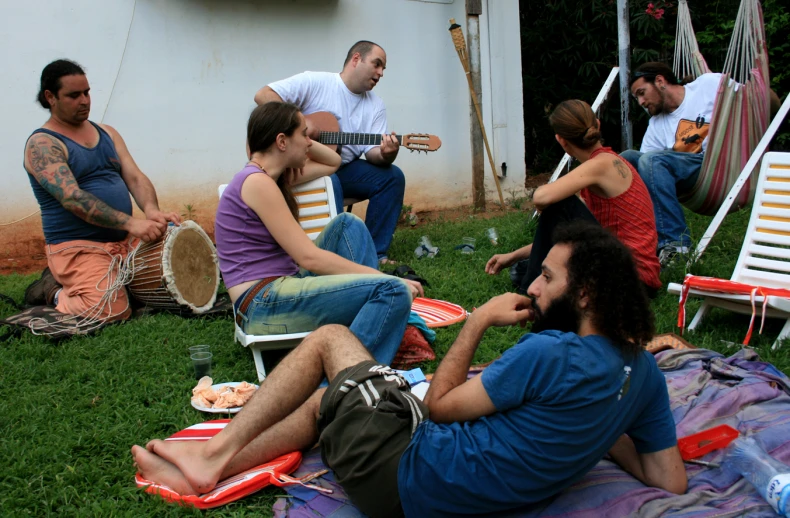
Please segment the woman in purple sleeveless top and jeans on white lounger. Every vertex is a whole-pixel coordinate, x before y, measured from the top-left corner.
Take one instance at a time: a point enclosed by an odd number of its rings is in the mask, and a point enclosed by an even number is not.
[[[311,241],[290,190],[303,171],[333,173],[339,155],[310,140],[296,106],[277,102],[253,110],[247,150],[249,162],[223,192],[215,223],[237,322],[248,334],[342,324],[389,364],[422,287],[378,271],[373,239],[352,214],[338,215]]]

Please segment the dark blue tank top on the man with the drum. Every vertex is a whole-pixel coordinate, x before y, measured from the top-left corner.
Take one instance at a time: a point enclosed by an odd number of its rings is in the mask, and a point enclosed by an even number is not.
[[[46,133],[63,142],[69,152],[69,168],[80,189],[93,194],[113,209],[131,216],[132,200],[129,197],[129,189],[121,177],[121,162],[118,160],[112,137],[97,124],[93,122],[91,124],[99,132],[99,143],[93,148],[82,146],[60,133],[45,128],[37,129],[32,135]],[[32,175],[27,176],[33,187],[33,194],[41,207],[41,224],[48,245],[75,239],[101,243],[126,239],[127,233],[124,230],[97,227],[67,211]]]

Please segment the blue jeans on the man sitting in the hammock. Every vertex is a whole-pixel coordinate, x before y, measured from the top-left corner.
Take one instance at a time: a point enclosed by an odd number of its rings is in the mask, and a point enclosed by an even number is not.
[[[639,172],[653,200],[659,250],[672,242],[691,246],[678,193],[690,191],[694,187],[704,155],[679,153],[671,149],[647,153],[629,149],[620,153],[620,156]]]

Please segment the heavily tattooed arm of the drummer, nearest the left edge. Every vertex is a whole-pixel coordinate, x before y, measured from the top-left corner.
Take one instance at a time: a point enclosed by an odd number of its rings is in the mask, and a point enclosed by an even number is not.
[[[92,225],[125,230],[135,237],[152,241],[162,229],[113,209],[77,184],[67,163],[66,146],[46,133],[36,133],[25,146],[25,169],[63,208]],[[142,223],[142,224],[141,224]]]

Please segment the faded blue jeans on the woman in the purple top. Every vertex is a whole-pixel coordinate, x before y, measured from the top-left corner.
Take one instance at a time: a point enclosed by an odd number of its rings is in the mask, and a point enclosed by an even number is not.
[[[353,214],[334,218],[315,244],[355,263],[378,266],[370,233]],[[389,365],[400,346],[410,311],[411,294],[397,277],[315,275],[301,270],[261,290],[242,319],[248,334],[300,333],[325,324],[342,324],[377,362]]]

